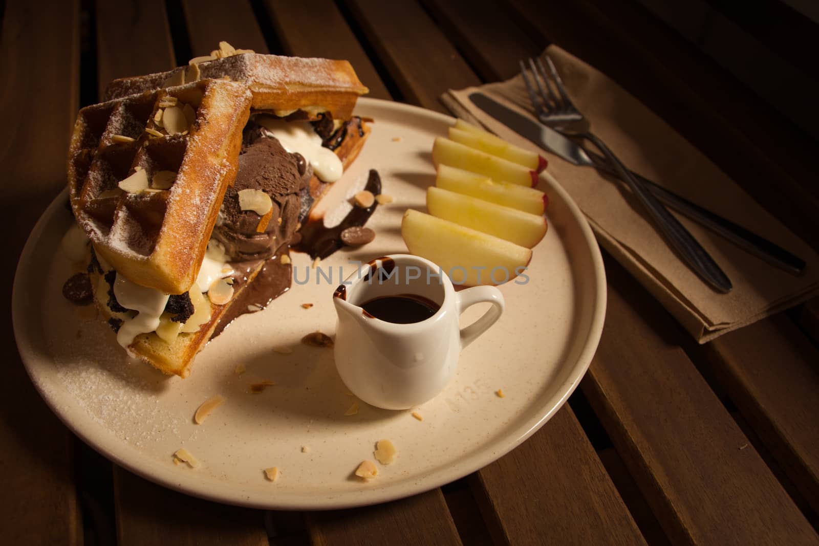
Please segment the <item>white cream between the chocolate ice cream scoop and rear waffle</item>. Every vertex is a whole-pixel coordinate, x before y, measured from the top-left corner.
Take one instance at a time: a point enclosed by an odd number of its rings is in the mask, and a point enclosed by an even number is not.
[[[260,115],[256,117],[256,123],[278,138],[285,150],[304,156],[323,182],[335,182],[342,178],[342,160],[332,150],[321,145],[321,137],[313,130],[309,121],[285,121]]]

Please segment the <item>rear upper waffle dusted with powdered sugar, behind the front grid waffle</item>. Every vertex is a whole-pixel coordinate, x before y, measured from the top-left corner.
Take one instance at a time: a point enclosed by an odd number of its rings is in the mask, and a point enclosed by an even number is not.
[[[348,61],[242,53],[167,72],[115,79],[106,89],[106,99],[144,93],[167,83],[225,77],[247,84],[254,110],[272,111],[279,117],[300,112],[305,119],[314,120],[329,112],[333,120],[349,120],[355,100],[368,92]]]

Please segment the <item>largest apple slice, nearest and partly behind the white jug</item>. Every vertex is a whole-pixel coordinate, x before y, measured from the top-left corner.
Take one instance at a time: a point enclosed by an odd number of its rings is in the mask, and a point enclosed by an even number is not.
[[[526,270],[532,250],[457,223],[408,209],[401,237],[409,252],[441,266],[452,282],[502,284]]]

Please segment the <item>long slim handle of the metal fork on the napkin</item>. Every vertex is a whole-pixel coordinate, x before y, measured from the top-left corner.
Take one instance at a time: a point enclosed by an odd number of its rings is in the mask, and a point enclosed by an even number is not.
[[[708,255],[708,252],[700,246],[694,237],[691,237],[690,232],[668,212],[663,204],[649,192],[643,183],[631,176],[631,171],[626,169],[625,165],[622,165],[617,156],[609,150],[609,147],[593,133],[586,132],[580,136],[593,142],[595,146],[603,152],[611,165],[614,166],[614,169],[617,170],[620,179],[631,187],[631,191],[634,192],[645,208],[649,210],[649,214],[654,217],[654,221],[663,231],[667,240],[671,242],[672,246],[676,248],[682,258],[686,260],[690,268],[693,269],[700,278],[703,278],[705,282],[708,282],[708,285],[710,285],[713,290],[722,292],[722,294],[730,292],[733,287],[731,280],[713,258]]]

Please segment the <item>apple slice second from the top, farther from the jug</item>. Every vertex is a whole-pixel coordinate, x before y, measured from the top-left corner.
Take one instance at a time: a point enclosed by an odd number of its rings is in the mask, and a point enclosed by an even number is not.
[[[483,174],[493,180],[534,187],[537,184],[537,173],[523,165],[512,163],[502,157],[492,156],[485,151],[476,150],[454,142],[448,138],[438,137],[432,145],[432,162],[435,166],[450,165],[466,169],[473,173]]]

